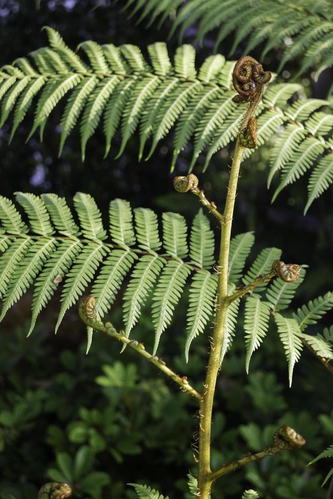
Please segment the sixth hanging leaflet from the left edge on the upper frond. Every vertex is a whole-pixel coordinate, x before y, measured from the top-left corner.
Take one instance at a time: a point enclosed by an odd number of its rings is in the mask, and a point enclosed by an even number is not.
[[[118,76],[104,78],[88,97],[80,124],[82,161],[86,156],[88,139],[96,130],[105,104],[118,82]]]

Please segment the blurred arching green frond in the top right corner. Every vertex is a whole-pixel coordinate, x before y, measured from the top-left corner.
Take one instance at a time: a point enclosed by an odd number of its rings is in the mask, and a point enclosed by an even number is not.
[[[247,41],[243,50],[249,53],[263,45],[262,58],[272,49],[283,50],[279,72],[287,61],[300,61],[298,74],[309,67],[318,67],[329,55],[333,44],[332,6],[328,1],[314,5],[311,0],[297,4],[280,4],[274,0],[235,2],[234,0],[118,0],[130,17],[142,11],[137,22],[148,19],[148,25],[159,18],[159,26],[175,11],[170,35],[180,28],[180,39],[191,26],[198,26],[196,42],[202,43],[214,31],[215,50],[233,34],[231,53]],[[285,43],[291,39],[292,43]],[[302,59],[303,57],[303,59]],[[321,66],[320,66],[321,68]],[[321,69],[323,70],[323,69]]]

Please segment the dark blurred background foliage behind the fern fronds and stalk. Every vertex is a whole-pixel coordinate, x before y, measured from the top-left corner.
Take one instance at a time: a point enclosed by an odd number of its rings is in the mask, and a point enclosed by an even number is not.
[[[72,48],[83,40],[93,39],[115,45],[133,43],[145,50],[149,43],[166,39],[168,26],[158,31],[153,27],[146,30],[143,24],[136,26],[135,20],[127,20],[119,5],[108,1],[41,0],[36,10],[31,0],[1,0],[0,65],[46,44],[45,34],[40,31],[45,24],[58,30]],[[185,42],[190,43],[195,33],[191,29],[185,35]],[[232,40],[226,41],[224,54],[229,52],[231,44]],[[211,53],[212,45],[212,39],[205,40],[198,52],[199,61]],[[176,46],[174,37],[169,42],[171,52]],[[234,59],[241,55],[241,49]],[[252,55],[259,58],[260,47]],[[279,52],[270,52],[265,67],[276,70],[279,58]],[[291,63],[279,78],[289,80],[292,73]],[[311,74],[303,75],[300,82],[309,96],[325,98],[328,80],[329,73],[324,72],[317,84]],[[138,162],[135,136],[122,157],[115,160],[117,140],[108,158],[102,159],[103,138],[96,133],[89,141],[82,163],[79,137],[74,132],[58,158],[61,110],[61,105],[54,110],[43,144],[37,136],[25,144],[31,126],[29,117],[10,146],[8,126],[0,131],[2,195],[12,198],[17,190],[36,194],[53,191],[71,198],[76,191],[83,191],[95,197],[104,213],[108,201],[116,197],[128,199],[133,207],[179,211],[189,218],[197,212],[195,198],[189,195],[184,198],[172,189],[171,138],[164,140],[149,161]],[[206,196],[218,206],[225,195],[231,153],[228,149],[221,151],[204,175],[200,163],[195,171]],[[184,151],[176,174],[186,173],[188,157],[190,151]],[[286,188],[271,205],[272,191],[266,189],[268,157],[269,147],[265,147],[243,165],[233,234],[255,230],[254,255],[264,246],[276,246],[283,248],[285,261],[310,266],[308,278],[296,297],[297,307],[331,290],[332,191],[315,201],[306,217],[302,215],[306,199],[306,184],[302,181]],[[155,486],[164,495],[169,494],[170,499],[185,496],[186,474],[189,470],[195,472],[192,457],[195,449],[190,447],[190,442],[196,444],[197,419],[190,415],[195,413],[195,404],[131,352],[119,356],[118,345],[107,338],[95,335],[86,356],[85,328],[74,310],[66,315],[54,337],[58,298],[59,294],[53,299],[53,309],[51,306],[41,316],[38,330],[29,339],[25,334],[31,295],[13,307],[2,324],[0,497],[35,498],[38,488],[64,473],[62,467],[70,466],[68,463],[78,451],[86,456],[87,462],[86,469],[75,478],[78,496],[135,497],[126,487],[127,482]],[[163,358],[200,386],[207,362],[207,337],[193,344],[186,366],[183,312],[179,311],[172,327],[163,335]],[[117,321],[119,315],[120,310],[115,308],[112,319]],[[328,314],[322,326],[330,325],[330,320]],[[315,327],[313,332],[321,329]],[[151,332],[147,308],[135,335],[149,344]],[[256,488],[265,499],[325,497],[320,484],[327,473],[327,463],[309,468],[305,465],[332,443],[329,374],[309,352],[303,352],[289,389],[283,349],[274,330],[269,331],[263,348],[254,355],[251,372],[249,376],[244,372],[239,324],[234,347],[218,380],[213,466],[247,451],[263,449],[280,424],[294,426],[306,437],[307,446],[295,453],[266,458],[243,472],[227,476],[216,484],[213,499],[239,498],[245,488]],[[96,472],[102,474],[98,477]],[[91,479],[93,492],[82,485],[91,474],[95,474],[95,482]]]

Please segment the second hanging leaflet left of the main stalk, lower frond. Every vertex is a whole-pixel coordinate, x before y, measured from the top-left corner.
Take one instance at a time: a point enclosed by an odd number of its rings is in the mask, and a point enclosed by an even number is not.
[[[152,306],[152,320],[155,326],[153,355],[156,354],[162,332],[171,323],[175,306],[181,297],[190,271],[190,267],[182,261],[170,260],[159,277]]]

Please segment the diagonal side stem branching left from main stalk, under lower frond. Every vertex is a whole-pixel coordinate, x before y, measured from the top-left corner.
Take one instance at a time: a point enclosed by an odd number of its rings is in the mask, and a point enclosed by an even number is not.
[[[81,300],[81,302],[82,301],[84,300]],[[104,332],[105,334],[107,334],[107,336],[114,338],[115,340],[123,343],[123,345],[127,345],[137,353],[140,353],[140,355],[145,357],[149,362],[151,362],[151,364],[157,367],[157,369],[162,371],[164,374],[166,374],[166,376],[169,376],[169,378],[177,383],[181,387],[183,392],[188,393],[199,401],[202,400],[202,395],[189,384],[186,376],[178,376],[178,374],[176,374],[168,366],[165,365],[165,362],[161,358],[158,358],[157,356],[154,356],[151,353],[147,352],[143,343],[138,343],[136,340],[129,340],[128,338],[126,338],[126,336],[123,335],[124,331],[117,332],[117,330],[110,322],[106,322],[106,324],[103,324],[103,322],[94,318],[90,319],[85,314],[84,308],[81,306],[81,303],[78,310],[80,318],[88,327],[92,327],[95,331]]]

